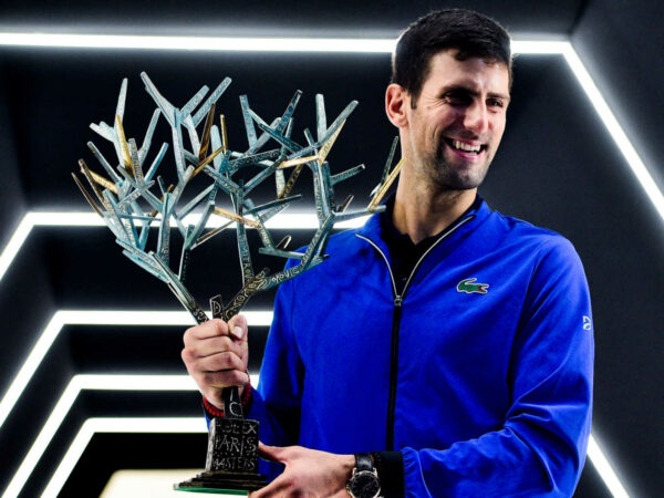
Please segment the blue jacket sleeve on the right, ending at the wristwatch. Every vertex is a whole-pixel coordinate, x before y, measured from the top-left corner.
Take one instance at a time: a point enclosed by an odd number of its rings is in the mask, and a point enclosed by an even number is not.
[[[505,423],[447,448],[403,448],[408,497],[570,497],[590,436],[593,336],[588,283],[563,240],[533,268]]]

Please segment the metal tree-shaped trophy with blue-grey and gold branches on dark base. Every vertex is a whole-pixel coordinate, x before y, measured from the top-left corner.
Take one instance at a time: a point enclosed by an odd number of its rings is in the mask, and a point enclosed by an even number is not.
[[[228,147],[224,116],[221,115],[219,126],[214,124],[216,103],[230,84],[229,79],[209,96],[209,90],[204,86],[178,108],[157,91],[147,74],[143,73],[141,76],[147,93],[157,105],[142,146],[138,147],[134,138],[127,139],[125,136],[123,120],[127,81],[124,80],[114,125],[110,126],[104,122],[91,124],[92,129],[111,142],[115,149],[115,158],[107,160],[92,142],[87,144],[107,176],[91,170],[83,159],[79,162],[81,173],[91,190],[84,187],[75,174],[72,176],[92,208],[116,237],[123,253],[166,282],[198,323],[207,321],[208,315],[185,284],[187,263],[194,249],[214,239],[226,228],[235,228],[243,284],[227,303],[222,303],[219,295],[210,299],[211,315],[228,321],[256,292],[274,288],[321,263],[325,258],[325,247],[334,224],[381,210],[378,203],[398,174],[401,163],[390,173],[395,142],[369,206],[346,212],[352,197],[336,205],[334,185],[357,174],[364,166],[359,165],[332,175],[326,157],[356,102],[349,104],[328,126],[323,97],[317,95],[317,137],[304,129],[305,145],[300,145],[292,138],[292,116],[301,92],[295,92],[283,114],[271,121],[271,124],[260,118],[250,108],[247,97],[241,96],[249,148],[246,152],[234,152]],[[149,147],[159,115],[168,123],[173,137],[170,145],[175,172],[162,172],[170,173],[174,178],[174,183],[168,186],[167,176],[157,172],[169,144],[164,143],[148,165]],[[257,127],[260,134],[257,133]],[[269,144],[273,144],[274,148],[269,149]],[[304,167],[312,173],[319,222],[307,249],[294,252],[287,250],[290,237],[274,243],[266,222],[300,197],[291,195],[291,191]],[[290,170],[288,180],[284,175],[287,170]],[[240,176],[241,179],[238,179]],[[196,183],[193,181],[195,177],[198,177]],[[276,198],[257,206],[248,195],[268,179],[273,181]],[[195,190],[199,185],[200,189]],[[221,198],[229,198],[227,205],[230,208],[221,207]],[[224,221],[220,226],[209,228],[208,221],[212,215],[221,217]],[[257,230],[260,253],[293,259],[298,263],[274,273],[268,269],[255,271],[247,227]],[[153,229],[152,237],[151,228],[156,228],[157,231],[155,234]],[[177,272],[172,270],[170,246],[174,234],[179,234],[181,238]],[[154,249],[148,249],[148,242],[153,239]],[[222,397],[225,417],[210,422],[205,471],[176,485],[176,489],[252,490],[264,486],[264,476],[258,474],[258,422],[243,417],[236,387],[225,388]]]

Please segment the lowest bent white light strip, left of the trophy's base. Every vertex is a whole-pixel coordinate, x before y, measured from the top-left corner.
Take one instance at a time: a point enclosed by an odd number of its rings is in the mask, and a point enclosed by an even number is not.
[[[89,418],[70,445],[55,473],[45,487],[42,498],[56,498],[69,476],[81,459],[90,440],[98,433],[137,433],[137,434],[190,434],[206,433],[203,417],[196,418]]]

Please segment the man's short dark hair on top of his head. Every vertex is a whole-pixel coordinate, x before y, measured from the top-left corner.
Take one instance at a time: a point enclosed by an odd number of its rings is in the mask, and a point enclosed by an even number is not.
[[[432,56],[458,50],[457,59],[483,58],[504,63],[511,85],[511,49],[507,31],[492,19],[465,9],[443,9],[413,22],[400,37],[392,58],[392,83],[415,102],[428,76]]]

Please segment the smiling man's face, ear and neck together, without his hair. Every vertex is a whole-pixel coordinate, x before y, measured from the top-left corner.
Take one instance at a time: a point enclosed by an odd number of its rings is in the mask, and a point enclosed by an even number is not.
[[[414,242],[475,201],[505,131],[509,64],[447,49],[430,58],[417,94],[398,83],[387,87],[385,107],[405,159],[394,225]]]

